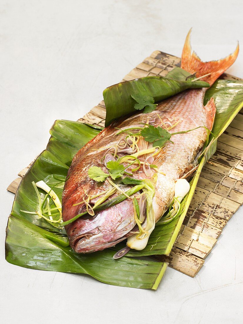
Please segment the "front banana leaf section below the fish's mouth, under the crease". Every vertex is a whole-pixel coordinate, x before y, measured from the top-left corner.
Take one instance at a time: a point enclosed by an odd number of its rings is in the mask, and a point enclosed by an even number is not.
[[[114,251],[106,249],[90,254],[75,253],[50,240],[46,231],[18,216],[8,220],[6,260],[29,269],[85,273],[123,287],[157,289],[166,263],[127,257],[114,260]]]

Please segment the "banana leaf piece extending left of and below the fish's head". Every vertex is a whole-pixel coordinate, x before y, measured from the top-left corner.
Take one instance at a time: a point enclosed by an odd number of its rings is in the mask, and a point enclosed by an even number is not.
[[[100,132],[75,121],[56,121],[47,149],[43,151],[22,179],[15,196],[6,229],[6,260],[12,264],[39,270],[86,273],[106,284],[157,289],[167,263],[122,258],[114,260],[110,249],[92,254],[78,254],[70,247],[64,229],[52,226],[35,211],[38,198],[32,181],[44,180],[61,200],[64,180],[72,157],[81,145]],[[61,182],[62,181],[62,182]],[[60,183],[61,182],[61,183]],[[41,199],[45,192],[40,192]]]

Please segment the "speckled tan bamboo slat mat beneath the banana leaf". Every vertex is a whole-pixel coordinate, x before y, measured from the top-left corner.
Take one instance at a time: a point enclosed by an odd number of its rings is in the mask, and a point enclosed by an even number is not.
[[[180,66],[180,58],[155,51],[129,72],[122,81],[148,75],[165,76],[175,66]],[[226,74],[221,78],[238,79]],[[104,126],[104,101],[79,121]],[[20,171],[19,177],[8,186],[8,191],[16,193],[22,177],[32,163]],[[218,139],[215,154],[203,168],[171,254],[155,256],[155,258],[167,261],[171,268],[194,277],[203,266],[205,257],[215,246],[227,221],[243,203],[242,179],[243,114],[240,112]]]

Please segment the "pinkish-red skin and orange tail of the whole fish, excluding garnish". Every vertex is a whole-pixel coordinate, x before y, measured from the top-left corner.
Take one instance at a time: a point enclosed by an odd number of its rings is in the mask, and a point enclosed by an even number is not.
[[[191,74],[197,72],[200,77],[211,73],[203,78],[212,85],[214,81],[235,61],[238,54],[236,51],[219,61],[203,63],[197,55],[191,53],[190,32],[187,35],[182,52],[182,68]],[[120,119],[112,125],[106,127],[93,140],[82,147],[74,156],[68,171],[66,183],[62,196],[63,221],[72,219],[75,215],[86,210],[83,204],[73,206],[83,200],[83,197],[90,197],[112,188],[111,184],[105,180],[103,183],[96,182],[89,178],[88,169],[92,166],[101,167],[107,172],[102,163],[102,157],[108,152],[109,147],[116,145],[124,134],[117,134],[120,129],[138,127],[149,122],[155,127],[164,123],[178,124],[171,129],[171,133],[187,131],[199,126],[206,126],[212,129],[215,117],[215,104],[211,99],[206,106],[203,105],[205,89],[191,89],[176,96],[160,102],[157,109],[150,114],[138,113],[124,120]],[[174,195],[174,186],[177,179],[181,178],[194,166],[194,159],[203,147],[207,137],[207,131],[201,127],[188,133],[175,134],[171,136],[173,143],[167,143],[163,150],[155,156],[153,164],[156,164],[161,172],[158,173],[155,185],[155,195],[153,198],[153,209],[156,222],[165,212],[168,203]],[[100,148],[103,150],[100,150]],[[148,144],[148,148],[152,144]],[[105,148],[105,149],[104,149]],[[127,154],[118,153],[118,156]],[[142,156],[145,157],[145,156]],[[154,170],[149,176],[151,178]],[[142,168],[134,173],[136,179],[146,179]],[[123,191],[129,186],[123,186]],[[115,197],[116,192],[110,198]],[[109,198],[109,199],[110,199]],[[90,201],[92,205],[98,198]],[[132,200],[126,199],[106,210],[95,214],[94,218],[79,218],[72,224],[65,227],[69,237],[70,245],[78,253],[88,253],[103,250],[115,246],[118,242],[126,239],[131,230],[136,225],[133,212]]]

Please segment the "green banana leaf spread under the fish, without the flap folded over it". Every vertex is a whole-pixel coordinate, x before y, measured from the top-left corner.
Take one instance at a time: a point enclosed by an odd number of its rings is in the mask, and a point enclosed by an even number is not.
[[[187,208],[192,199],[197,180],[205,161],[214,153],[216,138],[225,130],[243,105],[243,81],[217,81],[205,95],[205,103],[215,98],[217,113],[210,143],[191,182],[180,218],[169,224],[159,224],[152,232],[148,246],[143,251],[131,250],[126,257],[113,260],[114,251],[106,249],[92,254],[75,253],[69,246],[64,229],[53,227],[36,215],[21,210],[34,211],[37,197],[32,181],[44,180],[61,199],[63,182],[72,157],[101,129],[79,122],[56,121],[51,138],[26,176],[22,179],[15,196],[13,209],[6,230],[6,260],[10,263],[40,270],[87,273],[108,284],[156,289],[167,267],[166,263],[152,260],[137,260],[132,256],[169,254],[181,228]],[[45,195],[41,192],[41,197]]]

